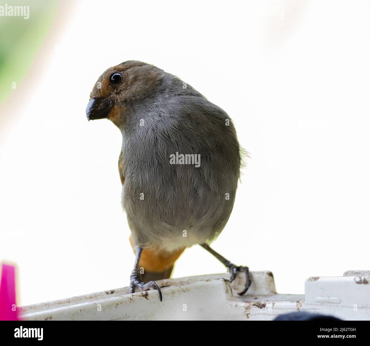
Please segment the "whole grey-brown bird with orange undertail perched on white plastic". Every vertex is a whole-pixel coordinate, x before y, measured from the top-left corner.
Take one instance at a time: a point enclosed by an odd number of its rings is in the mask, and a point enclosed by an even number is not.
[[[122,133],[121,203],[135,253],[129,292],[154,289],[162,301],[156,281],[198,244],[225,265],[230,282],[245,274],[245,294],[249,268],[210,247],[228,222],[244,162],[228,114],[179,77],[129,60],[101,74],[86,116]]]

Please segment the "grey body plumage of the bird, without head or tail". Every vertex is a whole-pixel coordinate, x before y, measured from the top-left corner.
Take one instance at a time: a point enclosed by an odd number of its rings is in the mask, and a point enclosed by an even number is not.
[[[126,104],[120,126],[122,206],[134,244],[145,248],[211,242],[235,200],[240,156],[234,126],[231,120],[226,125],[230,118],[221,108],[184,86],[163,73],[154,93]],[[200,154],[200,167],[170,164],[176,152]]]

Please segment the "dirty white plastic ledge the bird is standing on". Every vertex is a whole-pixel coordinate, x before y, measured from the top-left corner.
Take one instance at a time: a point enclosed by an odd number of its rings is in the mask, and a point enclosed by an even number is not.
[[[214,274],[158,281],[158,292],[128,293],[128,287],[20,307],[30,320],[272,320],[286,312],[307,310],[344,320],[370,319],[370,277],[310,277],[305,295],[278,294],[271,272],[251,272],[245,278]],[[167,287],[164,287],[167,286]]]

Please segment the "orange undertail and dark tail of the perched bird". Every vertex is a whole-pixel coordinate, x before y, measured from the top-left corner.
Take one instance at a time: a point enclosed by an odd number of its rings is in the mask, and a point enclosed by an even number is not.
[[[132,237],[130,235],[130,243],[132,246]],[[141,274],[142,280],[148,282],[151,280],[162,280],[169,279],[174,269],[176,260],[184,252],[185,247],[173,252],[167,252],[165,250],[152,250],[144,249],[141,252],[139,260],[139,268],[144,268],[144,273]],[[135,250],[134,250],[135,251]]]

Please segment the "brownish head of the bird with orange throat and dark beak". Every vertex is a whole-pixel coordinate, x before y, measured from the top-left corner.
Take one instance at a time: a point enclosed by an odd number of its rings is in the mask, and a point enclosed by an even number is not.
[[[153,97],[164,71],[141,61],[125,61],[107,69],[96,81],[86,108],[87,119],[109,119],[118,127],[127,109]]]

